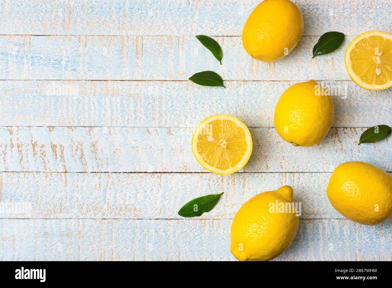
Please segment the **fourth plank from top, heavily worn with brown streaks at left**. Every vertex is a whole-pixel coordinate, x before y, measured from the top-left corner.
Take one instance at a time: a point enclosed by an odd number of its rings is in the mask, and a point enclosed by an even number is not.
[[[2,127],[0,171],[206,172],[194,159],[194,128]],[[274,128],[251,128],[243,172],[332,172],[364,161],[392,172],[390,139],[357,145],[365,128],[332,128],[321,143],[293,147]]]

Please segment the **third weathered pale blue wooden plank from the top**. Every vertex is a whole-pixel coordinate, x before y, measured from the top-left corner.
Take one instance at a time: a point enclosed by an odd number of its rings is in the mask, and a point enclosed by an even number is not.
[[[221,89],[176,81],[0,81],[0,126],[196,127],[213,114],[232,114],[249,127],[274,127],[276,102],[294,83],[235,81]],[[333,127],[389,122],[388,90],[324,85],[343,92],[332,97]]]

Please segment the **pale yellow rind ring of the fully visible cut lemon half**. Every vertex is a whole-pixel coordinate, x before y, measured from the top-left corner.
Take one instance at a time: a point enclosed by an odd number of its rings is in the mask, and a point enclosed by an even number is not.
[[[245,152],[245,155],[243,156],[242,160],[240,161],[240,163],[238,163],[236,166],[234,167],[230,167],[227,170],[221,170],[218,169],[214,166],[209,165],[208,163],[206,163],[203,158],[201,157],[201,155],[198,153],[197,150],[197,127],[200,127],[201,125],[206,125],[211,121],[214,120],[230,120],[233,121],[234,123],[236,123],[238,125],[238,127],[240,127],[242,130],[244,130],[245,135],[246,135],[246,141],[247,141],[247,150]],[[228,175],[228,174],[232,174],[237,172],[238,170],[240,170],[242,167],[244,167],[246,165],[246,163],[249,161],[250,158],[250,154],[252,154],[252,148],[253,148],[253,143],[252,143],[252,136],[250,135],[249,129],[248,127],[238,118],[231,116],[231,115],[227,115],[227,114],[218,114],[218,115],[213,115],[210,116],[206,119],[204,119],[203,121],[201,121],[199,123],[199,125],[196,127],[193,136],[192,136],[192,152],[194,157],[196,158],[196,160],[198,161],[198,163],[205,169],[207,169],[208,171],[214,173],[214,174],[220,174],[220,175]]]

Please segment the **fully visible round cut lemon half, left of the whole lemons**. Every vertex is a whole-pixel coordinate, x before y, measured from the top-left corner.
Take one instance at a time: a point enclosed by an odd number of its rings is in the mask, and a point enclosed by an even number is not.
[[[215,174],[240,170],[252,153],[252,137],[241,120],[230,115],[214,115],[196,127],[192,152],[201,166]]]

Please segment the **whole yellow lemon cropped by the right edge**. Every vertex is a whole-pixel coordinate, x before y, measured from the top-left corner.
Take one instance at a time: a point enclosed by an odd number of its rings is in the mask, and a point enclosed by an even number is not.
[[[346,162],[332,173],[327,196],[343,216],[375,225],[392,213],[392,177],[368,163]]]

